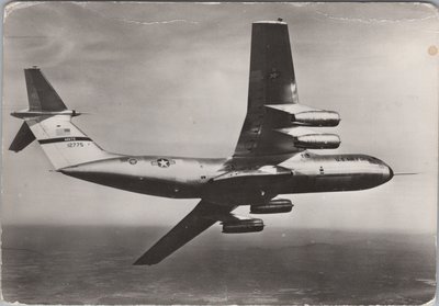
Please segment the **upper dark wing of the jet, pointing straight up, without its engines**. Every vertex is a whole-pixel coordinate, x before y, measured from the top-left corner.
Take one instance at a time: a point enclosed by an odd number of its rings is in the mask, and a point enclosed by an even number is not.
[[[292,155],[302,150],[277,129],[291,127],[291,116],[273,105],[299,103],[284,22],[256,22],[251,31],[250,80],[245,123],[234,157]]]

